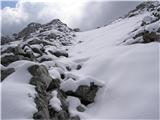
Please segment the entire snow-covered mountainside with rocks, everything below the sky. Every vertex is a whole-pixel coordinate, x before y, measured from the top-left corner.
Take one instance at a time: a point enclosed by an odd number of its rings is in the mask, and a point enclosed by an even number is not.
[[[2,119],[159,118],[159,2],[91,31],[55,19],[4,38]]]

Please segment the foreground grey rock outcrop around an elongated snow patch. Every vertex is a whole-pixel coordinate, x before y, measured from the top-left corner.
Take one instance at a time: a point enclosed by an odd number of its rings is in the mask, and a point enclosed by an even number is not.
[[[34,85],[37,91],[36,98],[34,99],[38,109],[38,112],[33,115],[35,120],[80,120],[78,116],[70,116],[68,102],[66,101],[67,96],[59,89],[60,81],[52,79],[45,66],[33,65],[28,68],[28,71],[33,76],[30,84]],[[57,98],[60,100],[62,108],[60,111],[54,109],[49,103],[53,90],[56,90],[58,93]]]

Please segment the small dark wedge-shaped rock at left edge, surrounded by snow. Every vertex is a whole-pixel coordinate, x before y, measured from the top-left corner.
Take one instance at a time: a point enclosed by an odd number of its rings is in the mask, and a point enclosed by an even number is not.
[[[13,72],[15,72],[14,68],[1,69],[1,82]]]

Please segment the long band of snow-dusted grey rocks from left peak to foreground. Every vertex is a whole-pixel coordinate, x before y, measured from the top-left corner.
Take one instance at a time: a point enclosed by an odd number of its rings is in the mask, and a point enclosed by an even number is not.
[[[63,91],[60,87],[61,83],[73,78],[66,72],[79,70],[82,67],[77,63],[65,64],[58,61],[59,58],[69,57],[67,49],[62,46],[70,45],[75,36],[74,32],[77,31],[79,29],[72,30],[58,19],[45,25],[31,23],[15,35],[17,41],[8,41],[1,47],[1,82],[15,72],[14,68],[8,67],[11,63],[20,60],[35,63],[28,68],[28,72],[32,75],[29,84],[35,86],[37,92],[34,98],[38,110],[33,114],[35,120],[80,120],[78,115],[70,114],[68,96],[77,97],[81,101],[81,105],[77,106],[79,112],[85,110],[84,105],[94,102],[99,89],[94,82],[89,86],[79,85],[75,92]],[[59,77],[51,75],[49,69],[56,69]],[[53,91],[57,92],[56,97],[61,104],[60,110],[50,103],[55,97],[52,95]]]

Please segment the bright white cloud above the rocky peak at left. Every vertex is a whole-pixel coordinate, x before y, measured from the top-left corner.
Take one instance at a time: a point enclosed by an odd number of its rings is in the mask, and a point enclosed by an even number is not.
[[[51,2],[52,1],[52,2]],[[30,22],[46,23],[59,18],[69,26],[80,22],[85,2],[76,0],[20,0],[16,8],[2,9],[2,34],[20,31]],[[74,22],[73,22],[74,21]]]

